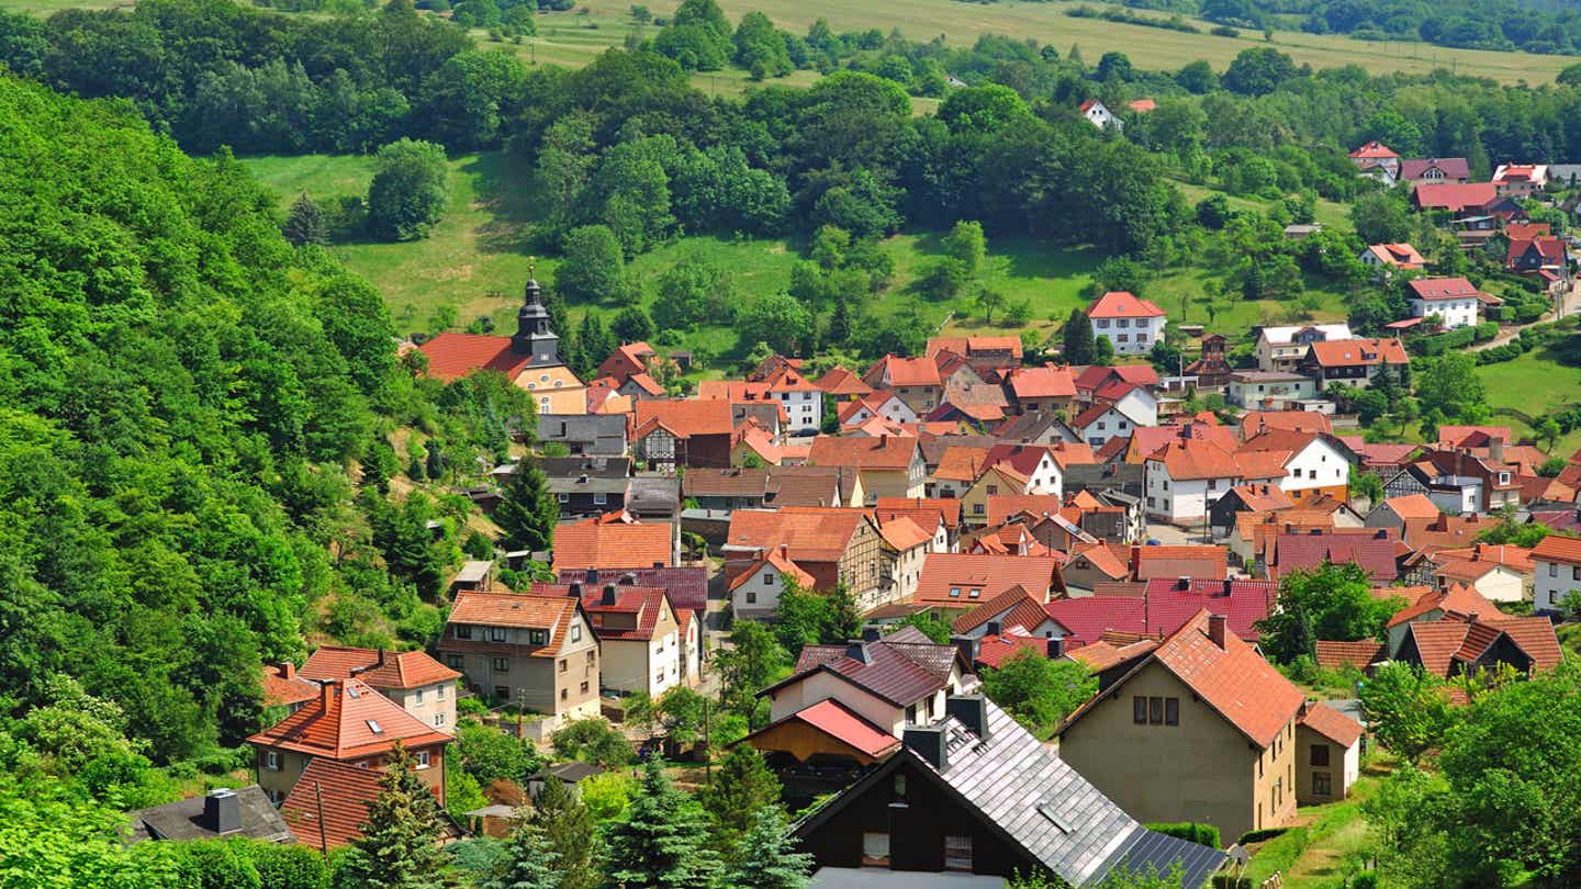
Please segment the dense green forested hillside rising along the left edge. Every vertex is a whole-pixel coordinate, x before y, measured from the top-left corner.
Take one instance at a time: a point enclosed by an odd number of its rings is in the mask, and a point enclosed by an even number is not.
[[[289,247],[229,155],[14,78],[0,315],[0,769],[126,804],[253,731],[259,664],[307,633],[425,642],[466,503],[387,500],[384,432],[443,471],[531,410],[416,384],[378,293]]]

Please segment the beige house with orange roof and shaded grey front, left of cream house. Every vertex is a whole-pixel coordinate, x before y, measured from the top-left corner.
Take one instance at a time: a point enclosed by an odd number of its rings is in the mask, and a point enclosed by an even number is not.
[[[438,649],[474,693],[550,726],[599,715],[598,639],[580,598],[460,593]]]

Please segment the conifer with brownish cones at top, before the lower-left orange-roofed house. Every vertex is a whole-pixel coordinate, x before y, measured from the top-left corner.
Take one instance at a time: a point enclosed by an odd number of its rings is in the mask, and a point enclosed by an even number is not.
[[[443,889],[458,886],[440,848],[440,804],[417,780],[416,758],[397,742],[368,805],[362,837],[335,872],[343,886]]]

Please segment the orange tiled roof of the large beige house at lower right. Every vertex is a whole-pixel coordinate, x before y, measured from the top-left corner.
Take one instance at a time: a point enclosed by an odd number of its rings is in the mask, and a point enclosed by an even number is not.
[[[1293,720],[1306,696],[1273,668],[1249,644],[1233,633],[1224,634],[1224,647],[1208,637],[1209,612],[1203,609],[1165,639],[1148,658],[1138,663],[1124,679],[1110,688],[1121,687],[1149,663],[1157,663],[1173,674],[1209,707],[1235,726],[1260,748],[1268,748],[1274,737]],[[1059,734],[1080,724],[1096,702],[1088,701],[1066,720]]]

